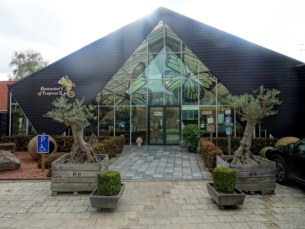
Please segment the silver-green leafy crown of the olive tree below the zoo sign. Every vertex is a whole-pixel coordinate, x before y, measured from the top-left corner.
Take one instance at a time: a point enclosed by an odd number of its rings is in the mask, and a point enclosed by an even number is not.
[[[90,125],[89,119],[95,119],[96,116],[91,112],[95,107],[89,105],[86,107],[83,105],[83,98],[81,101],[75,100],[73,104],[67,103],[68,99],[64,96],[56,98],[52,105],[57,107],[48,111],[44,117],[53,118],[54,121],[63,123],[66,126],[74,127],[75,129],[84,129],[86,126]]]

